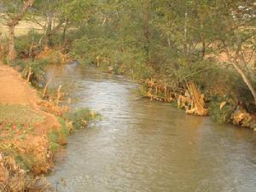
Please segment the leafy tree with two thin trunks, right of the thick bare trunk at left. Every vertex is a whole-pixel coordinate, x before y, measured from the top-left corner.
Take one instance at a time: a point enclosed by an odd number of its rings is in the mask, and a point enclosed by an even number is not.
[[[62,30],[62,44],[66,41],[67,29],[84,20],[91,1],[89,0],[42,0],[33,6],[32,22],[44,29],[44,46],[52,45],[52,37]]]

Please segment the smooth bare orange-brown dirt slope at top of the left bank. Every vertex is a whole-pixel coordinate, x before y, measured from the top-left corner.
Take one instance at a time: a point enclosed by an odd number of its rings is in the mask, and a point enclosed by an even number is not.
[[[37,135],[60,127],[54,115],[40,110],[39,102],[40,98],[36,90],[33,90],[30,84],[21,78],[20,73],[0,62],[0,104],[27,105],[41,113],[45,120],[43,123],[36,125],[35,132]]]

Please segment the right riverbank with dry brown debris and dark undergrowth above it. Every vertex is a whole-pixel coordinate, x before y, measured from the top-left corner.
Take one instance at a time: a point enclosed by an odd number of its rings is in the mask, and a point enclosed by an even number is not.
[[[218,124],[230,123],[256,131],[254,103],[247,87],[230,68],[223,68],[221,73],[217,73],[220,64],[212,65],[209,69],[202,70],[197,77],[181,77],[180,80],[164,73],[152,73],[151,78],[139,76],[134,79],[130,73],[133,69],[128,67],[125,70],[119,70],[124,68],[122,66],[115,70],[105,65],[98,68],[105,73],[124,75],[132,82],[140,84],[137,91],[139,98],[169,102],[189,115],[211,116]],[[224,73],[228,78],[235,76],[232,84],[220,79]],[[213,81],[215,75],[219,77],[218,81]],[[207,78],[212,81],[203,80]],[[240,85],[236,87],[236,84]]]

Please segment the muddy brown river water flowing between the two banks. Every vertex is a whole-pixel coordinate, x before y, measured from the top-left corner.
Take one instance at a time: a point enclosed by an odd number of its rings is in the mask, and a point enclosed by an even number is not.
[[[69,137],[49,181],[58,191],[256,191],[256,136],[168,103],[137,99],[135,84],[76,64],[53,68],[103,119]],[[61,182],[62,181],[62,182]]]

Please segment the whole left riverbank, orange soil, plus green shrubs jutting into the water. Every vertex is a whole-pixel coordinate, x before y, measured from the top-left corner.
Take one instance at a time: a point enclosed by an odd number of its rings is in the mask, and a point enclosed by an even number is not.
[[[0,87],[0,190],[49,189],[36,176],[52,169],[69,132],[88,125],[96,113],[89,109],[69,113],[67,108],[43,101],[20,73],[2,63]]]

